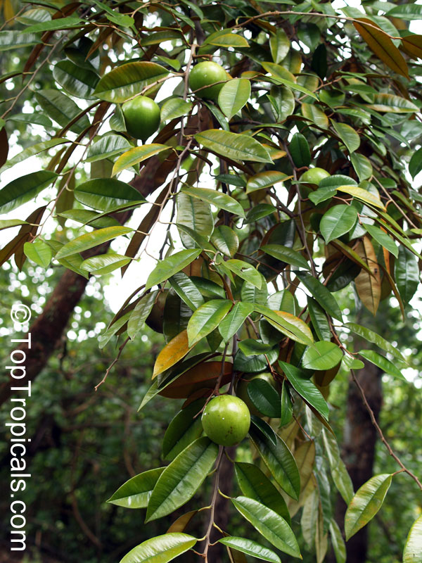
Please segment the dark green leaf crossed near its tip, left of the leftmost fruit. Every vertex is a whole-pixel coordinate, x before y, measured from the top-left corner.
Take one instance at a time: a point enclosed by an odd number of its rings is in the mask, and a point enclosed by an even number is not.
[[[76,118],[81,109],[77,104],[71,100],[62,91],[56,89],[45,89],[34,91],[34,96],[37,102],[44,110],[44,113],[49,116],[49,118],[58,122],[58,125],[65,127],[70,121]],[[70,130],[79,134],[89,127],[89,119],[84,113],[81,115],[79,120],[75,122]]]

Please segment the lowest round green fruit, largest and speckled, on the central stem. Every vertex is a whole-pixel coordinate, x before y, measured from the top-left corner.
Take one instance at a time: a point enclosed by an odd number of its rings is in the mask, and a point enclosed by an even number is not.
[[[248,434],[250,414],[243,400],[219,395],[207,404],[201,421],[210,440],[219,445],[235,445]]]

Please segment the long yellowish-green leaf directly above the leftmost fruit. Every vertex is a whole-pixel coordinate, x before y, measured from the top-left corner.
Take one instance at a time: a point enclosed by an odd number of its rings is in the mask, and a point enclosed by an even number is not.
[[[103,76],[94,94],[101,100],[122,103],[167,74],[168,71],[157,63],[149,61],[125,63]]]

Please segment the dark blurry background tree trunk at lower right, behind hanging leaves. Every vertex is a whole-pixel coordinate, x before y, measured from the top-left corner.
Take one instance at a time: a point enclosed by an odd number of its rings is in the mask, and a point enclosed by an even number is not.
[[[356,372],[357,380],[364,390],[366,400],[377,421],[383,402],[382,373],[381,369],[369,363],[365,364],[364,369]],[[371,423],[369,412],[362,402],[359,388],[350,379],[342,457],[352,478],[355,492],[363,483],[371,479],[373,474],[376,439],[377,432]],[[339,496],[335,517],[342,529],[344,528],[345,511],[345,502]],[[368,551],[367,527],[365,526],[350,538],[346,547],[347,563],[364,563]]]

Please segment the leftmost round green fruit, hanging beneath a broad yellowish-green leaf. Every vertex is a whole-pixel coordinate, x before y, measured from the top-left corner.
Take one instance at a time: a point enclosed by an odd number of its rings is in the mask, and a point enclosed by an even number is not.
[[[124,122],[129,135],[145,141],[160,126],[160,108],[147,96],[137,96],[122,105]]]

